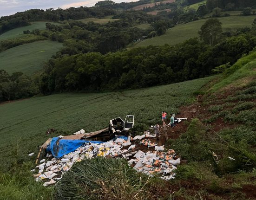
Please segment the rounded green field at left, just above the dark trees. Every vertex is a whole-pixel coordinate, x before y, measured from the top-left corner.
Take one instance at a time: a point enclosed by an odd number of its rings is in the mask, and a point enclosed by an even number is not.
[[[49,40],[15,46],[0,52],[0,69],[9,74],[22,71],[26,75],[32,75],[41,70],[44,62],[47,62],[61,47],[62,43]]]

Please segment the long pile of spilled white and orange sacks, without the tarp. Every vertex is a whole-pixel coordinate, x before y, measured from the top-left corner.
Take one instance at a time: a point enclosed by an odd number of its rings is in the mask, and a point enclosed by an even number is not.
[[[174,150],[168,150],[166,153],[163,146],[153,145],[148,146],[148,149],[153,151],[143,152],[136,148],[136,144],[131,144],[131,141],[136,139],[142,140],[144,138],[155,137],[155,135],[144,134],[135,136],[130,140],[118,138],[115,141],[109,141],[101,144],[86,143],[85,145],[77,148],[74,152],[63,155],[61,158],[52,158],[52,155],[47,154],[48,159],[43,159],[40,164],[36,166],[31,172],[36,181],[46,181],[44,186],[49,186],[61,179],[63,174],[67,172],[75,162],[82,161],[85,158],[95,158],[97,156],[104,157],[124,157],[129,160],[131,167],[138,170],[138,172],[145,174],[161,174],[161,178],[170,180],[174,177],[172,171],[176,169],[175,166],[180,164],[180,158],[176,159]],[[148,143],[151,143],[150,141]],[[124,149],[125,148],[125,149]],[[134,149],[134,150],[133,150]],[[129,151],[129,152],[128,152]],[[127,154],[125,154],[127,152]],[[122,155],[120,155],[122,154]],[[118,156],[120,155],[120,156]],[[51,158],[51,159],[50,159]]]

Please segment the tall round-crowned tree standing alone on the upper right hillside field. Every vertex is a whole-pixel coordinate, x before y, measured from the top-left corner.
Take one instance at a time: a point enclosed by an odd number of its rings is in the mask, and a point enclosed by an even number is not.
[[[208,19],[203,26],[201,26],[201,30],[198,33],[201,40],[206,44],[214,46],[221,38],[222,23],[219,19]]]

